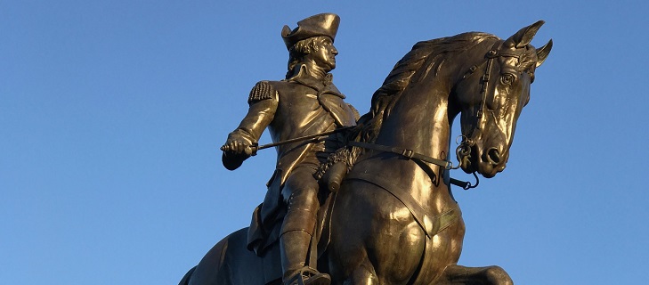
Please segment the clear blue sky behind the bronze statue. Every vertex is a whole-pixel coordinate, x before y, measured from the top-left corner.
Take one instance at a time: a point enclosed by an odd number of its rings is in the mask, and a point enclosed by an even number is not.
[[[546,20],[507,169],[454,190],[460,264],[646,280],[646,1],[336,3],[0,1],[0,283],[176,284],[247,226],[274,152],[231,172],[218,147],[250,88],[284,76],[282,26],[320,12],[342,19],[334,81],[361,113],[418,41]]]

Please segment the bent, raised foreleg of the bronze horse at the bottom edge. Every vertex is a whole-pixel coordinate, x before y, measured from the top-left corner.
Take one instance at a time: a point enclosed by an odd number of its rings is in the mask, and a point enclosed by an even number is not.
[[[499,266],[465,267],[449,265],[442,273],[439,285],[513,285],[514,282]]]

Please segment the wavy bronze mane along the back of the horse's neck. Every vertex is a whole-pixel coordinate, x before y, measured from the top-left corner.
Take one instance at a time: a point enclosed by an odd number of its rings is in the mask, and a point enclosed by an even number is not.
[[[371,107],[359,119],[354,136],[361,142],[374,142],[383,121],[390,114],[394,103],[401,97],[413,77],[423,77],[431,70],[436,73],[449,53],[464,53],[486,39],[498,40],[491,34],[470,32],[453,37],[442,37],[418,42],[412,50],[398,61],[383,85],[372,95]]]

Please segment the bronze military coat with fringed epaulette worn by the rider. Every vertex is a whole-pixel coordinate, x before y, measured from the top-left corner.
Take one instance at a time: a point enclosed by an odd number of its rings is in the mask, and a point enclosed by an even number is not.
[[[273,142],[283,142],[354,126],[358,112],[344,99],[345,95],[330,82],[330,77],[329,80],[311,77],[303,67],[295,77],[257,83],[248,97],[247,115],[231,135],[243,137],[252,144],[258,142],[268,128]],[[324,141],[282,144],[276,151],[276,169],[267,184],[261,213],[258,213],[264,222],[274,218],[281,203],[281,187],[291,171],[301,164],[317,166],[335,150],[328,150],[327,141]],[[223,156],[223,164],[228,168],[239,167],[242,161],[236,156]]]

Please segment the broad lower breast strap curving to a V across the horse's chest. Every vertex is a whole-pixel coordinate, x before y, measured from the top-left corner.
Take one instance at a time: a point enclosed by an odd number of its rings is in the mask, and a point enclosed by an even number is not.
[[[442,232],[462,216],[458,203],[455,203],[453,207],[445,210],[439,215],[433,216],[426,210],[426,208],[422,207],[421,204],[410,195],[410,193],[403,191],[401,187],[388,181],[382,176],[352,172],[345,177],[345,180],[347,179],[361,180],[375,184],[385,191],[388,191],[396,199],[399,199],[403,205],[410,210],[410,214],[412,214],[415,221],[417,221],[417,224],[419,224],[424,232],[426,232],[428,238],[432,238],[438,232]]]

